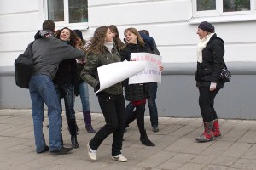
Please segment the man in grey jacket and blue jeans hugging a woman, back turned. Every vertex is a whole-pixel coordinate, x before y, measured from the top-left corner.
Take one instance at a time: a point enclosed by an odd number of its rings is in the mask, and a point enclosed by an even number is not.
[[[55,23],[45,20],[43,31],[49,30],[54,35]],[[32,118],[37,153],[50,151],[52,154],[67,154],[72,148],[65,148],[61,142],[61,105],[53,77],[61,60],[82,58],[84,53],[69,47],[64,42],[50,36],[35,40],[32,46],[34,68],[29,82],[32,100]],[[48,107],[49,146],[46,145],[43,133],[44,103]]]

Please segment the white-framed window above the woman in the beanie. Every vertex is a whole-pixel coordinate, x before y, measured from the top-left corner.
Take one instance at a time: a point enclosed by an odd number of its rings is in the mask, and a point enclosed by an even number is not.
[[[192,0],[194,17],[256,14],[256,0]]]

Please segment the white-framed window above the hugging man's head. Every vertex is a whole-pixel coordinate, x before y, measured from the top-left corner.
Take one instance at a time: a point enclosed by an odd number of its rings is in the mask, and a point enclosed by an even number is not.
[[[87,25],[87,0],[44,0],[44,4],[45,19],[55,21],[56,26]]]

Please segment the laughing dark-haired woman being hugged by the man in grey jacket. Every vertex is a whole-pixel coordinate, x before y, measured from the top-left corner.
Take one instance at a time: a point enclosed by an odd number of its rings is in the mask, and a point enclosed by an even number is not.
[[[72,30],[67,27],[57,31],[57,38],[61,41],[76,46],[76,37]],[[77,67],[75,59],[61,61],[58,71],[53,80],[57,92],[60,94],[60,99],[64,98],[67,125],[71,134],[71,144],[73,148],[79,148],[77,140],[77,123],[74,111],[75,95],[79,94],[79,77],[77,75]]]

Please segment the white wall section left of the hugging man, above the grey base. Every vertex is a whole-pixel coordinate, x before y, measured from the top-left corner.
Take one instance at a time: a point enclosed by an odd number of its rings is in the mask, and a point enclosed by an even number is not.
[[[38,0],[0,1],[0,66],[14,65],[17,56],[40,29],[43,3]]]

